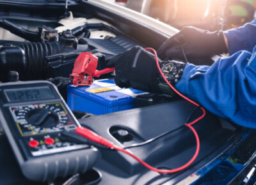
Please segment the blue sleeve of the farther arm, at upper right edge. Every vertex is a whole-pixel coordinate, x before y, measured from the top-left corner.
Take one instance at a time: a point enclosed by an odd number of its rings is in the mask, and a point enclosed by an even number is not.
[[[224,31],[228,40],[229,55],[246,50],[252,52],[256,45],[256,19],[244,26]]]

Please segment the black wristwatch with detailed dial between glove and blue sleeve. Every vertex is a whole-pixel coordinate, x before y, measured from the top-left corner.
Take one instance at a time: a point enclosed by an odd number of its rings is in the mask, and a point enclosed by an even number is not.
[[[183,69],[186,66],[185,63],[180,61],[163,61],[160,64],[161,71],[164,77],[170,82],[170,84],[175,85],[179,82]],[[172,91],[171,87],[165,82],[162,75],[159,73],[159,89],[162,93],[169,94],[170,96],[175,96],[175,92]]]

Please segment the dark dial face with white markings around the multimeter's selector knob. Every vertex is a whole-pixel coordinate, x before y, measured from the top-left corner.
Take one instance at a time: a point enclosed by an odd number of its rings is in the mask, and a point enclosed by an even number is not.
[[[22,136],[62,131],[75,127],[62,103],[41,103],[10,107]]]

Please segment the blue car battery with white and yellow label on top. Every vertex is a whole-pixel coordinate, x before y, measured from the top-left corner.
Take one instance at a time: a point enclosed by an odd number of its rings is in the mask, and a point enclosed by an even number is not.
[[[90,86],[68,85],[67,102],[71,110],[100,115],[134,108],[135,98],[146,92],[120,88],[112,79],[95,80]]]

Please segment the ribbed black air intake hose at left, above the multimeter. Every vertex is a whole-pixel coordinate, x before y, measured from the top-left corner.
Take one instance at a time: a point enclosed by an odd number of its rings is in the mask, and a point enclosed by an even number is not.
[[[65,48],[58,42],[0,41],[0,71],[19,71],[26,80],[42,78],[47,68],[45,56],[63,52]]]

